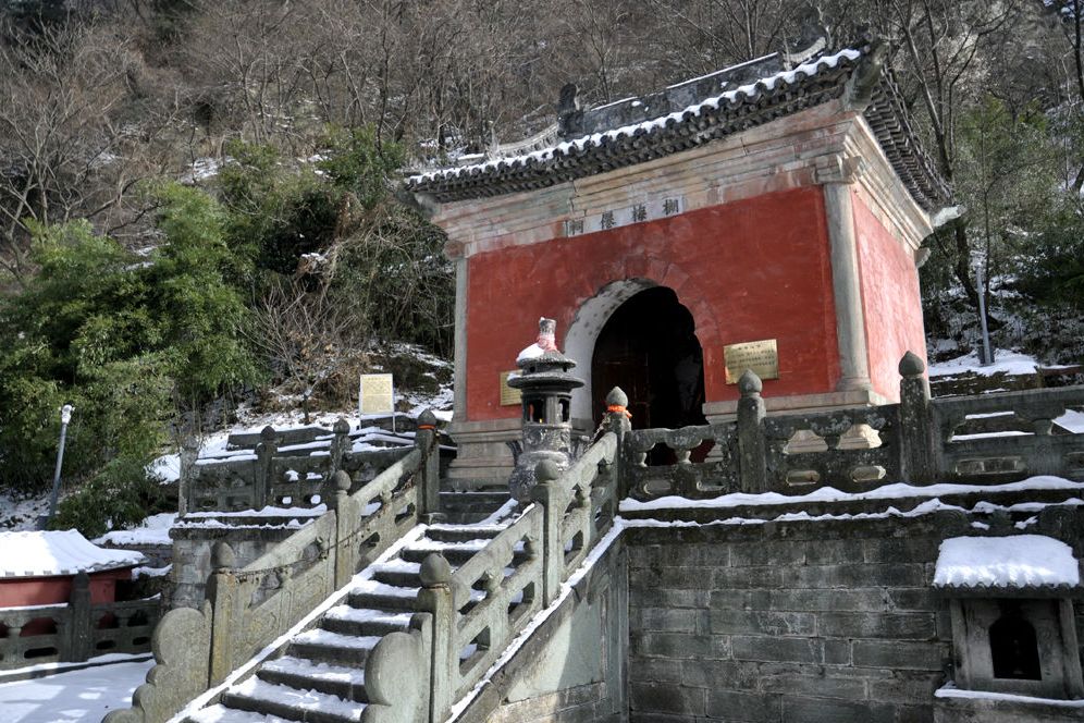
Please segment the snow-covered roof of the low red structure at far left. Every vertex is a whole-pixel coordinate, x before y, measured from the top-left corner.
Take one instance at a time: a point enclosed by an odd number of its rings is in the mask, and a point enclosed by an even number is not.
[[[131,550],[99,548],[74,529],[0,532],[0,579],[96,573],[146,561]]]

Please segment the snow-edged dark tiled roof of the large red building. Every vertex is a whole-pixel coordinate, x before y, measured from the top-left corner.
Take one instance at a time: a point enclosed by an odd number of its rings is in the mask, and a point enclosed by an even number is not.
[[[875,79],[863,114],[911,195],[923,208],[935,210],[948,200],[949,188],[920,147],[891,73],[882,70],[873,54],[871,46],[848,48],[717,93],[730,85],[726,71],[720,71],[706,76],[720,78],[716,95],[681,110],[523,155],[420,173],[407,179],[406,187],[444,203],[542,188],[644,162],[840,98],[863,63],[870,63]]]

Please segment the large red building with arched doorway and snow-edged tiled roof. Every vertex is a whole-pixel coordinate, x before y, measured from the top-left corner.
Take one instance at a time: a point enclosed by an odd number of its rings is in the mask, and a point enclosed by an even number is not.
[[[503,379],[541,316],[579,363],[576,426],[615,384],[637,427],[732,418],[743,368],[772,412],[895,401],[924,356],[917,267],[949,189],[884,49],[773,54],[412,176],[456,265],[452,477],[503,483]]]

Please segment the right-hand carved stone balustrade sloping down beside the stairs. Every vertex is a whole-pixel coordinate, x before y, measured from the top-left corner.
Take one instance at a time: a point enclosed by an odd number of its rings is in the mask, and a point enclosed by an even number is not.
[[[568,470],[540,463],[533,503],[459,568],[453,572],[439,553],[422,563],[418,600],[432,623],[429,721],[447,719],[612,526],[628,421],[611,414],[606,424],[608,431]]]

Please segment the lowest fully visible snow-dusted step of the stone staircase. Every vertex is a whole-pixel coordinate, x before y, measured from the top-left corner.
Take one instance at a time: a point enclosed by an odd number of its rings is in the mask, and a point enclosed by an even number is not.
[[[222,695],[226,708],[305,723],[356,723],[365,703],[250,677]]]

